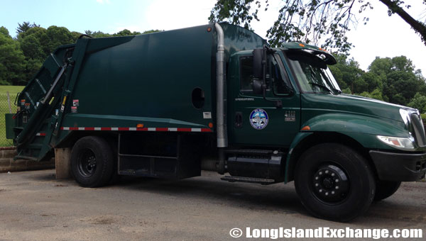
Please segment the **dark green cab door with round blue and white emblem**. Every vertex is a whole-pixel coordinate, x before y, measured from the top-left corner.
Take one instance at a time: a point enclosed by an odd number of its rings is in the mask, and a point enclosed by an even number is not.
[[[231,145],[288,147],[300,130],[300,95],[294,91],[280,55],[268,55],[266,99],[253,92],[253,56],[239,56],[229,79]],[[238,69],[238,70],[237,70]],[[282,108],[275,107],[276,101]]]

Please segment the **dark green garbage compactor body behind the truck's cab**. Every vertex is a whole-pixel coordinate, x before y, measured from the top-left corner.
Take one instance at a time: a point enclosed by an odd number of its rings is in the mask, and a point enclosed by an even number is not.
[[[228,57],[266,44],[244,28],[226,23],[222,28]],[[208,25],[130,37],[82,38],[75,45],[58,47],[18,96],[22,112],[15,126],[23,128],[15,128],[19,157],[44,159],[70,135],[63,127],[136,128],[143,124],[144,128],[214,132],[209,123],[215,123],[216,35],[214,25]],[[72,57],[73,69],[60,77],[50,104],[42,105],[70,49],[72,56],[67,57]],[[198,108],[192,101],[196,88],[202,90]]]

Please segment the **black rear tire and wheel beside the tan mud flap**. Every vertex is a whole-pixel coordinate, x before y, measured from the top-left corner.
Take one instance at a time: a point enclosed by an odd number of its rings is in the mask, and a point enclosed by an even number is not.
[[[80,186],[104,186],[111,179],[113,165],[113,152],[102,138],[86,136],[72,147],[71,172]]]

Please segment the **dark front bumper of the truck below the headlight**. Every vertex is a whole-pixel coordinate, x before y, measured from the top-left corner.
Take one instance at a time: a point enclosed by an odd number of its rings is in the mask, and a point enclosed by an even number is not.
[[[382,181],[417,181],[425,176],[426,153],[405,154],[370,151],[378,179]]]

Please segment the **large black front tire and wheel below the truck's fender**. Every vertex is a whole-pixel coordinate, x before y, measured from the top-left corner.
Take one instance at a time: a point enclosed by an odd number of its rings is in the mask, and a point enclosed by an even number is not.
[[[347,222],[367,211],[376,181],[366,159],[336,143],[305,151],[295,168],[295,189],[303,206],[318,218]]]

